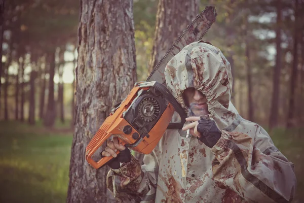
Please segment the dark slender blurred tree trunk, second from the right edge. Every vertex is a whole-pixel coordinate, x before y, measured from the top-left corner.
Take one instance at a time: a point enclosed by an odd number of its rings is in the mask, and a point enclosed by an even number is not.
[[[281,24],[282,24],[282,14],[281,14],[281,1],[277,3],[277,28],[276,28],[276,66],[274,70],[273,77],[273,93],[272,93],[272,105],[269,120],[270,129],[274,128],[278,124],[278,111],[279,111],[279,94],[280,94],[280,74],[281,74]]]

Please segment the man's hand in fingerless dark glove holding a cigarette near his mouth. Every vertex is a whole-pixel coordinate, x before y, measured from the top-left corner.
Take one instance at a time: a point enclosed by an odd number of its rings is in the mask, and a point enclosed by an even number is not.
[[[188,117],[186,121],[194,121],[182,128],[190,129],[190,133],[197,137],[206,146],[212,148],[221,137],[221,132],[213,120],[201,119],[201,117]]]

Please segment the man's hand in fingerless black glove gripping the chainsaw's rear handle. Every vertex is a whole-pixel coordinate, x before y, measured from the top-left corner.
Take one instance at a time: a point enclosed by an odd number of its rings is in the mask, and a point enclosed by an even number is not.
[[[101,152],[101,156],[112,156],[113,158],[107,162],[107,165],[112,169],[120,168],[120,163],[131,161],[131,153],[128,148],[119,144],[118,138],[114,137],[112,141],[107,141],[105,151]],[[120,150],[119,154],[116,152]]]

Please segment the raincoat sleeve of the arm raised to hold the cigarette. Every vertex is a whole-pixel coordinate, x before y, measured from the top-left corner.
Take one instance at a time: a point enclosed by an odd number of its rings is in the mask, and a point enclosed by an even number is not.
[[[296,183],[293,164],[261,127],[247,124],[246,128],[255,133],[221,130],[222,136],[212,148],[214,180],[250,202],[291,201]]]

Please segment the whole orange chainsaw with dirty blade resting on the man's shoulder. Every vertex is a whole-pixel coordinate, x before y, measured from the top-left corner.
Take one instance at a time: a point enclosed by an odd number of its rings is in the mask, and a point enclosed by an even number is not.
[[[186,114],[166,88],[165,66],[183,47],[200,41],[216,16],[214,7],[206,7],[182,32],[147,80],[136,83],[128,96],[114,106],[86,148],[89,164],[97,169],[113,158],[102,157],[95,161],[92,157],[111,136],[118,137],[121,145],[133,151],[149,154],[167,128],[182,128]],[[170,123],[174,112],[179,114],[181,121]],[[116,153],[119,154],[119,151]]]

